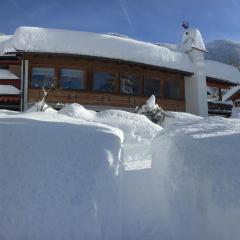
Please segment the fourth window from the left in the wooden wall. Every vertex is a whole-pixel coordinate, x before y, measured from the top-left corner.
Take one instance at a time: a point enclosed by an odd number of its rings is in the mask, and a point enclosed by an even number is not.
[[[130,95],[139,95],[139,79],[136,76],[121,75],[121,93]]]

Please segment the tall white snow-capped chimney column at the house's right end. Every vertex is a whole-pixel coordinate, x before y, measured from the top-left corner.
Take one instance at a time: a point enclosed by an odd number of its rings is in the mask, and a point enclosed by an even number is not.
[[[199,116],[208,116],[204,61],[204,53],[207,51],[199,30],[185,30],[183,50],[189,55],[194,66],[194,74],[191,77],[185,77],[186,111]]]

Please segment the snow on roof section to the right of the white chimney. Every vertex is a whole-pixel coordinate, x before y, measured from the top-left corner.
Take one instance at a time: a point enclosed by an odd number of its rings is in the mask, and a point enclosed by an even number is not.
[[[207,77],[240,84],[240,72],[236,67],[212,60],[205,60],[205,63]]]

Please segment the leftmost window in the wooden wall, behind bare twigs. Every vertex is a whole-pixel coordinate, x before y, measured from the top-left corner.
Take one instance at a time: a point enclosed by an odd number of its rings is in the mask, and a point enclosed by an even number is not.
[[[55,72],[54,68],[32,68],[32,88],[54,87]]]

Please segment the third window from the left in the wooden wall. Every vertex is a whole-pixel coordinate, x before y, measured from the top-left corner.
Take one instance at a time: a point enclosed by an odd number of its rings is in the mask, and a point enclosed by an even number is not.
[[[114,74],[108,72],[94,72],[93,90],[102,92],[114,92],[115,91]]]

